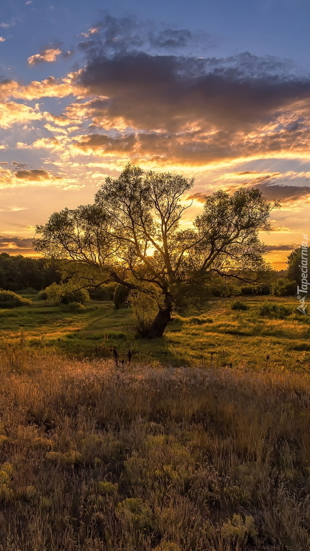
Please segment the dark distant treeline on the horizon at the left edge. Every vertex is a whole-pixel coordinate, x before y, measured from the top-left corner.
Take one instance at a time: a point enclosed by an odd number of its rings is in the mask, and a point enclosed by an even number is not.
[[[59,283],[61,273],[46,258],[27,258],[0,253],[0,289],[18,291],[31,287],[37,291]]]

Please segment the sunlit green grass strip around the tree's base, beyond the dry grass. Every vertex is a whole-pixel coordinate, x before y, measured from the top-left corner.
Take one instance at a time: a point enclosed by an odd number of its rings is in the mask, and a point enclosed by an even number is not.
[[[115,311],[111,301],[76,308],[34,300],[19,309],[0,309],[0,347],[17,345],[22,334],[35,354],[45,350],[76,359],[110,358],[116,347],[120,358],[130,348],[136,361],[151,365],[308,369],[310,321],[298,314],[295,299],[268,298],[270,304],[291,309],[282,319],[259,315],[265,297],[242,298],[249,307],[244,311],[232,310],[232,301],[214,300],[199,314],[175,316],[164,338],[148,341],[135,338],[130,311]]]

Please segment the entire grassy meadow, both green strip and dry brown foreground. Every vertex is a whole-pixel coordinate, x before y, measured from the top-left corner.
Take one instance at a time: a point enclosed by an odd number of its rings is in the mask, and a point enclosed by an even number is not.
[[[0,310],[1,551],[310,549],[309,321],[234,302],[149,342],[112,302]]]

